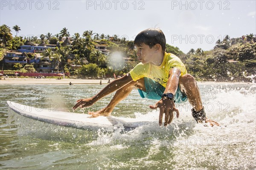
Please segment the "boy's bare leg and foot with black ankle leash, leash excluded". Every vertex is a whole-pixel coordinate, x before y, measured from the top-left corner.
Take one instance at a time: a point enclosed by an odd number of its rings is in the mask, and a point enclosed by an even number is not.
[[[189,103],[193,106],[195,111],[201,111],[203,108],[201,94],[194,77],[190,74],[183,75],[180,77],[180,86],[181,91],[185,91],[186,95],[188,96]],[[206,122],[209,122],[211,126],[219,126],[217,122],[214,122],[208,118],[206,119]]]

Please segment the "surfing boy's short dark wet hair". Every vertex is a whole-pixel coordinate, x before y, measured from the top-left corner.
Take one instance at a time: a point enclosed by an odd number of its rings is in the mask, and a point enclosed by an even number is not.
[[[141,31],[134,40],[134,45],[141,46],[142,43],[145,43],[152,48],[156,44],[162,46],[162,52],[164,54],[166,49],[166,38],[163,34],[163,31],[159,28],[148,28],[144,31]]]

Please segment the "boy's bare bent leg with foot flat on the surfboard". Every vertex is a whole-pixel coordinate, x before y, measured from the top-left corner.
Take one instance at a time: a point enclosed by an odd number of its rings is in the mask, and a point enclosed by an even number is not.
[[[88,112],[93,117],[98,116],[110,116],[111,112],[114,110],[115,106],[125,99],[134,88],[140,88],[141,90],[145,91],[144,87],[144,79],[140,79],[137,82],[130,82],[129,84],[125,85],[124,87],[120,88],[116,91],[116,94],[111,99],[110,103],[103,109],[96,111],[96,112]]]

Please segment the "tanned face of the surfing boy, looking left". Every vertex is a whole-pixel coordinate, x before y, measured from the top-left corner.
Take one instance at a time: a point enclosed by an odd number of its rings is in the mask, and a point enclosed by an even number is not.
[[[142,43],[141,46],[135,45],[135,48],[137,49],[137,57],[140,62],[143,64],[154,62],[154,55],[157,53],[154,46],[149,48],[149,45]]]

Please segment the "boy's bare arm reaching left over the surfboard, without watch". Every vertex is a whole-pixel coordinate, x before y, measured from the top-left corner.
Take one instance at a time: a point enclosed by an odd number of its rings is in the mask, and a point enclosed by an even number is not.
[[[118,90],[119,88],[122,88],[123,86],[127,85],[129,82],[132,82],[132,81],[133,79],[131,78],[131,75],[129,73],[125,74],[125,76],[119,79],[113,80],[105,88],[99,91],[99,93],[96,94],[95,96],[88,99],[77,100],[76,105],[73,106],[73,109],[76,110],[79,107],[80,108],[89,107],[93,105],[93,103],[101,99],[102,97],[107,96],[108,94],[111,94],[112,92]]]

